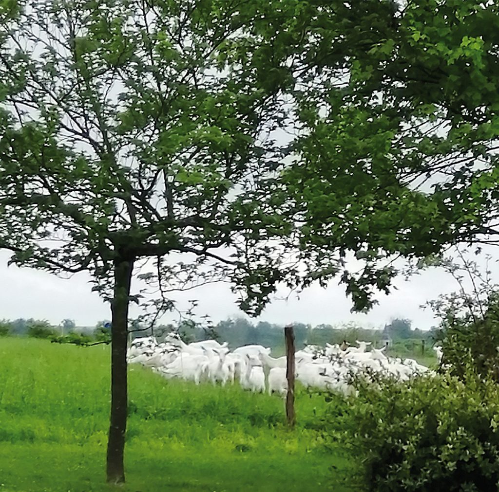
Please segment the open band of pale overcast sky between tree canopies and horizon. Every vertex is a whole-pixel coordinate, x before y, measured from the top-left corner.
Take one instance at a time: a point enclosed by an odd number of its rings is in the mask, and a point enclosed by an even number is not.
[[[494,249],[488,251],[494,253]],[[58,324],[62,319],[70,318],[78,326],[94,326],[100,320],[110,319],[109,305],[90,292],[87,275],[82,273],[63,280],[44,272],[19,269],[13,265],[7,267],[8,257],[8,252],[0,251],[0,319],[35,318]],[[493,264],[492,270],[497,280],[499,270],[496,264]],[[378,295],[379,305],[369,314],[362,315],[350,313],[351,302],[345,297],[344,287],[337,284],[334,281],[327,289],[310,287],[299,299],[291,295],[287,302],[275,300],[257,320],[282,325],[302,322],[312,326],[355,321],[365,327],[379,328],[392,317],[403,317],[412,320],[413,328],[429,329],[437,322],[429,309],[422,310],[420,306],[440,293],[457,290],[456,281],[450,275],[432,269],[408,282],[398,279],[395,283],[398,290],[389,296]],[[245,316],[238,310],[236,298],[228,285],[200,287],[182,293],[177,299],[179,307],[187,307],[189,299],[198,299],[197,313],[208,314],[215,323],[228,317]],[[131,314],[137,315],[137,309]]]

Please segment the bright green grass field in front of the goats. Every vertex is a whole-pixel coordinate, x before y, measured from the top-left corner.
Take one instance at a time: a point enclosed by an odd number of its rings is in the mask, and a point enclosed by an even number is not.
[[[319,396],[298,392],[289,431],[277,397],[137,366],[129,382],[120,491],[359,490],[351,458],[322,437]],[[104,482],[108,415],[109,347],[1,338],[0,492],[116,490]]]

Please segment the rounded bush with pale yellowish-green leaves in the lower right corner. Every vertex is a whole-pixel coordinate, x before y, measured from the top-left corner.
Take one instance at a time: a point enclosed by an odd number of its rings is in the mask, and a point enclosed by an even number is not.
[[[342,426],[368,490],[498,490],[499,389],[492,379],[466,379],[440,374],[359,387]]]

